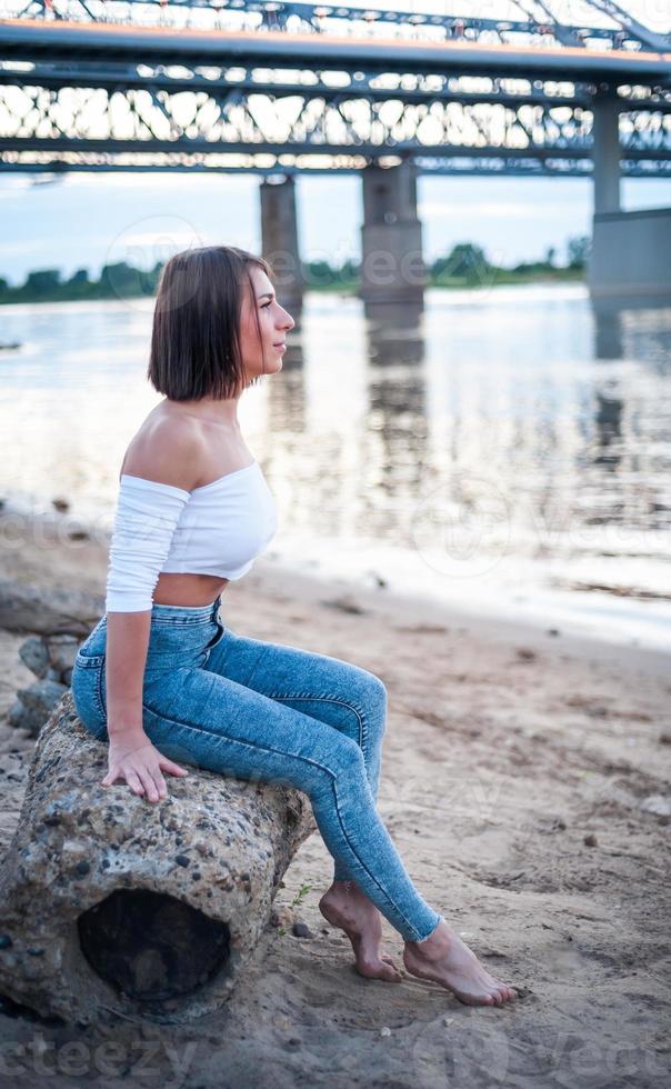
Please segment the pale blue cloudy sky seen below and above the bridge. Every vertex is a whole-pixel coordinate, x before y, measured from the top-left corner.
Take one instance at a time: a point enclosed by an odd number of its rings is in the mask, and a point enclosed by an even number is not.
[[[440,0],[391,0],[388,6],[442,12],[463,8]],[[578,0],[554,7],[567,21],[584,16]],[[671,27],[669,0],[624,0],[622,7],[658,30]],[[494,8],[497,14],[512,10],[498,0],[471,8],[489,16]],[[590,18],[599,21],[593,13]],[[87,268],[97,277],[103,264],[119,260],[151,268],[192,244],[262,251],[260,179],[251,174],[72,173],[52,184],[36,182],[28,174],[0,173],[0,277],[11,284],[36,269],[59,268],[67,277]],[[623,180],[621,194],[623,210],[671,207],[671,180]],[[304,261],[338,266],[359,258],[358,177],[299,177],[297,209]],[[590,233],[592,184],[583,178],[420,177],[418,213],[427,261],[468,241],[503,267],[542,258],[550,247],[563,263],[568,238]]]

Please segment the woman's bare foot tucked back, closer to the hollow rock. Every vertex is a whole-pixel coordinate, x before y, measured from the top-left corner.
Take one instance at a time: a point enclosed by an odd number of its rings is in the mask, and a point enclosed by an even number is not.
[[[333,927],[344,930],[357,958],[357,971],[368,979],[397,983],[403,978],[391,957],[380,956],[382,922],[374,903],[354,881],[333,881],[319,901],[319,910]]]

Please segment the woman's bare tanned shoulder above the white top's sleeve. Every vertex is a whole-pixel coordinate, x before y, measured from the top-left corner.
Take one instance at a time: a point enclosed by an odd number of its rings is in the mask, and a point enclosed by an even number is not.
[[[149,416],[128,444],[121,473],[191,491],[204,454],[202,430],[188,417]]]

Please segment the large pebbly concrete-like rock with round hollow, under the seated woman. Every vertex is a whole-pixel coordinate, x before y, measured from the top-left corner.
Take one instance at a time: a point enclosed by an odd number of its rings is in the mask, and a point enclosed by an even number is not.
[[[68,692],[0,866],[0,992],[83,1023],[109,1010],[189,1021],[231,993],[314,830],[310,802],[189,765],[152,803],[100,786],[107,753]]]

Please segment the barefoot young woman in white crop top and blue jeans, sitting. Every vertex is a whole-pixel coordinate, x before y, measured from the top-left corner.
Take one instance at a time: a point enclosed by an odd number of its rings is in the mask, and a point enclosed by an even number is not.
[[[302,790],[334,858],[322,915],[357,968],[398,981],[380,912],[407,970],[468,1005],[515,992],[414,888],[375,809],[385,728],[382,681],[349,662],[231,631],[220,596],[268,546],[277,511],[238,422],[244,389],[282,369],[293,319],[261,258],[207,247],[171,258],[153,318],[148,377],[164,400],[121,467],[106,615],[80,648],[77,711],[109,743],[109,771],[157,802],[174,758]]]

